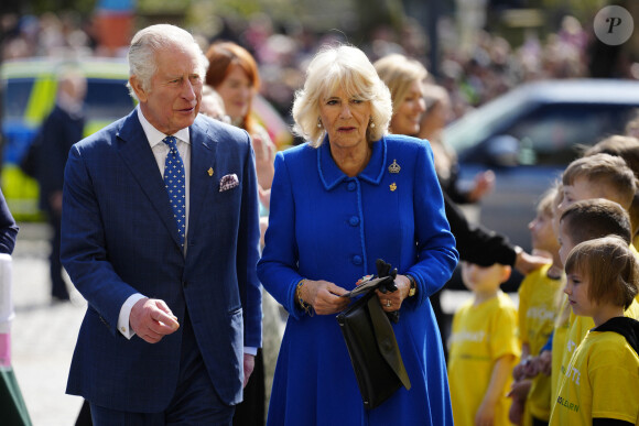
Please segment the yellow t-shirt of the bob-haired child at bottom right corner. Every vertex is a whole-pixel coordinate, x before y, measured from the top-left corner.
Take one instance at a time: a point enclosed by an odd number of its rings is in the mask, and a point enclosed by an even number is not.
[[[615,418],[639,425],[639,357],[614,331],[589,331],[562,374],[550,425]]]

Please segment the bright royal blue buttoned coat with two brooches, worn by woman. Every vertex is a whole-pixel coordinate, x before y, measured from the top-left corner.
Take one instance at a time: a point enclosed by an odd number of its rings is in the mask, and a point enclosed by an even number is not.
[[[367,167],[348,177],[329,142],[279,153],[266,248],[264,288],[290,313],[269,407],[269,425],[452,425],[442,340],[429,296],[451,277],[458,255],[427,144],[389,135],[372,143]],[[398,173],[391,173],[389,167]],[[398,167],[394,167],[397,165]],[[335,315],[305,315],[300,280],[351,290],[383,259],[416,280],[393,325],[412,389],[367,412]]]

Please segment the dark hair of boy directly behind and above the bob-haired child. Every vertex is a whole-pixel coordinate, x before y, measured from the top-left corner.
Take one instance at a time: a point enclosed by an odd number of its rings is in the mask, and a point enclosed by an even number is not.
[[[577,201],[562,214],[560,222],[575,244],[610,234],[619,237],[626,244],[632,241],[628,211],[609,199],[592,198]]]

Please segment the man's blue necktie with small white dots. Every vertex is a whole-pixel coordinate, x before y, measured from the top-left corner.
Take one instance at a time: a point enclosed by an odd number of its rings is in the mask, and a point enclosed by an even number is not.
[[[184,237],[186,234],[186,194],[184,163],[177,152],[177,141],[175,136],[166,136],[162,140],[169,145],[169,154],[164,162],[164,185],[169,193],[169,200],[173,207],[173,216],[177,222],[180,243],[184,248]]]

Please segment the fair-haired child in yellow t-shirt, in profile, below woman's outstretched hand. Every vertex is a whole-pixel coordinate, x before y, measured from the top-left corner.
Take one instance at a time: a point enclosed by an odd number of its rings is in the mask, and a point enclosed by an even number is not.
[[[515,382],[510,420],[517,425],[548,424],[550,418],[551,380],[530,368],[552,335],[556,317],[556,297],[563,287],[563,264],[559,258],[559,240],[554,232],[553,201],[556,187],[549,189],[537,207],[537,217],[528,225],[532,248],[552,256],[552,263],[526,275],[519,286],[519,339],[521,362],[512,370]]]

